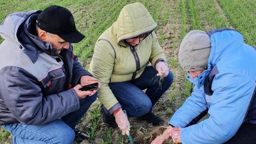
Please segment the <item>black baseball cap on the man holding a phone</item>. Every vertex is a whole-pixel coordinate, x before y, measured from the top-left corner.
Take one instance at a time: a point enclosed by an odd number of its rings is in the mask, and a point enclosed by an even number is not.
[[[44,9],[39,14],[36,24],[41,30],[57,34],[60,38],[70,43],[78,43],[85,37],[76,30],[71,12],[62,6],[52,5]]]

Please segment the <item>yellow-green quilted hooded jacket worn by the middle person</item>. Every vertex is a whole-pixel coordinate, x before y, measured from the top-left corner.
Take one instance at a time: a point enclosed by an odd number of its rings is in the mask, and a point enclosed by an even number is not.
[[[154,29],[157,24],[145,6],[139,2],[128,4],[118,19],[97,40],[89,72],[101,82],[98,97],[112,114],[121,107],[108,84],[125,82],[141,76],[148,61],[152,66],[159,60],[166,61]],[[151,32],[136,47],[124,40]]]

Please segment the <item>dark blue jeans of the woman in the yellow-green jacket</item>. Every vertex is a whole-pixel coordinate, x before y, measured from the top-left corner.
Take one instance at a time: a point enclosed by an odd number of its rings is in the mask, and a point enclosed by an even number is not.
[[[122,105],[128,116],[138,117],[153,112],[153,106],[173,82],[171,71],[163,78],[159,86],[159,76],[152,66],[147,66],[142,75],[129,82],[109,83],[114,96]],[[146,92],[142,90],[147,89]],[[104,107],[106,114],[109,111]],[[110,115],[111,116],[111,115]]]

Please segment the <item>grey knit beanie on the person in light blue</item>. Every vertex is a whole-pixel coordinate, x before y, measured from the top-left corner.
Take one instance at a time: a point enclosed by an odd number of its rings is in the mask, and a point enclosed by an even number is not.
[[[199,71],[207,68],[211,51],[209,35],[201,30],[192,30],[181,42],[179,61],[185,71]]]

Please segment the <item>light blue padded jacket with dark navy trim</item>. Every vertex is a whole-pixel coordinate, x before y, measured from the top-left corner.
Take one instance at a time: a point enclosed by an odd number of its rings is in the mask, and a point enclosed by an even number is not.
[[[195,84],[191,96],[174,113],[170,125],[182,127],[184,144],[228,141],[244,121],[256,124],[256,51],[232,29],[208,31],[211,52],[208,69],[187,79]],[[198,124],[196,120],[209,113]]]

